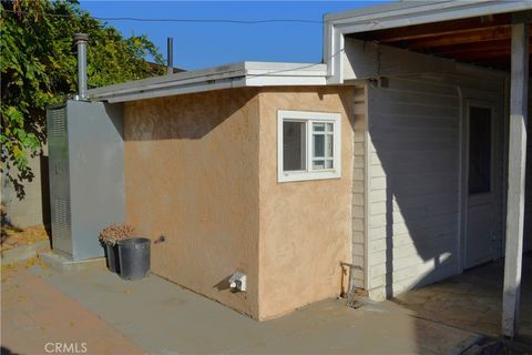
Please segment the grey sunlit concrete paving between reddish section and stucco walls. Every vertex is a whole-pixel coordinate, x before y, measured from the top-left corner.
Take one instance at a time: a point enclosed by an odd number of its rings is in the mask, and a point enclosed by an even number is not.
[[[31,272],[153,354],[459,354],[479,338],[389,303],[352,310],[329,300],[259,323],[153,275]]]

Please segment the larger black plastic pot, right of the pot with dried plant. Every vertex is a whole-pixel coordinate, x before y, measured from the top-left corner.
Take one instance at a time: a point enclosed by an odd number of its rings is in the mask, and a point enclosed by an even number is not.
[[[141,280],[150,272],[150,243],[146,237],[119,242],[120,277]]]

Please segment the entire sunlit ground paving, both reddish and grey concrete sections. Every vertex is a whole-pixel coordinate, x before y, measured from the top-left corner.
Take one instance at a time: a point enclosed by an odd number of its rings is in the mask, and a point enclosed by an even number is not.
[[[2,277],[2,354],[44,354],[47,342],[86,342],[88,354],[460,354],[480,338],[390,302],[329,300],[258,323],[157,276],[18,265]]]

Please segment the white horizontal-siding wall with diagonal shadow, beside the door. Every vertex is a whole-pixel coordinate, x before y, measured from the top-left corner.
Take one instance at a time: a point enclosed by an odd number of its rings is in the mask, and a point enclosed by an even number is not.
[[[371,298],[393,296],[459,272],[462,100],[458,89],[499,91],[502,97],[503,82],[488,77],[468,79],[458,72],[431,79],[395,78],[387,88],[368,85]]]

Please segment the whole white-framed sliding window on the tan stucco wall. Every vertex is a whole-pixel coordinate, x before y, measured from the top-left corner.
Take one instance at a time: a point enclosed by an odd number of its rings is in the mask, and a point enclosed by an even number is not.
[[[340,114],[278,111],[278,181],[340,178]]]

